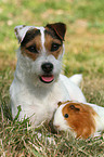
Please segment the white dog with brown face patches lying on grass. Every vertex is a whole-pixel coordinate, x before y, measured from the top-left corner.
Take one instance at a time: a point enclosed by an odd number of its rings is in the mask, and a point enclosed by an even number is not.
[[[84,103],[86,97],[78,87],[80,76],[67,78],[61,75],[66,25],[21,25],[14,30],[21,47],[10,87],[13,118],[21,105],[18,118],[30,117],[32,126],[38,126],[42,121],[50,121],[58,101]]]

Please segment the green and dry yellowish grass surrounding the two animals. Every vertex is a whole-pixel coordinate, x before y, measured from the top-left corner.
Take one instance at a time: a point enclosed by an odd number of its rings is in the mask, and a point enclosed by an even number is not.
[[[52,134],[41,127],[37,136],[29,119],[11,119],[9,88],[16,65],[16,25],[67,25],[63,71],[83,75],[88,102],[104,106],[104,0],[1,0],[0,1],[0,156],[104,156],[104,134],[75,140],[67,133]],[[53,139],[53,143],[48,140]],[[55,143],[55,144],[54,144]]]

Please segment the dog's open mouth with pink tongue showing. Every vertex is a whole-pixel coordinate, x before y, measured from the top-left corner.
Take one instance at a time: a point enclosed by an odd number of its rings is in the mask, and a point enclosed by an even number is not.
[[[40,76],[40,80],[44,83],[51,83],[54,80],[53,75],[42,75]]]

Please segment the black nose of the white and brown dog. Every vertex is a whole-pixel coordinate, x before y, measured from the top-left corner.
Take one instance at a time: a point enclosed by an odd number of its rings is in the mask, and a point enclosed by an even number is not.
[[[50,62],[43,63],[41,65],[41,68],[43,69],[44,73],[51,73],[53,69],[53,64]]]

